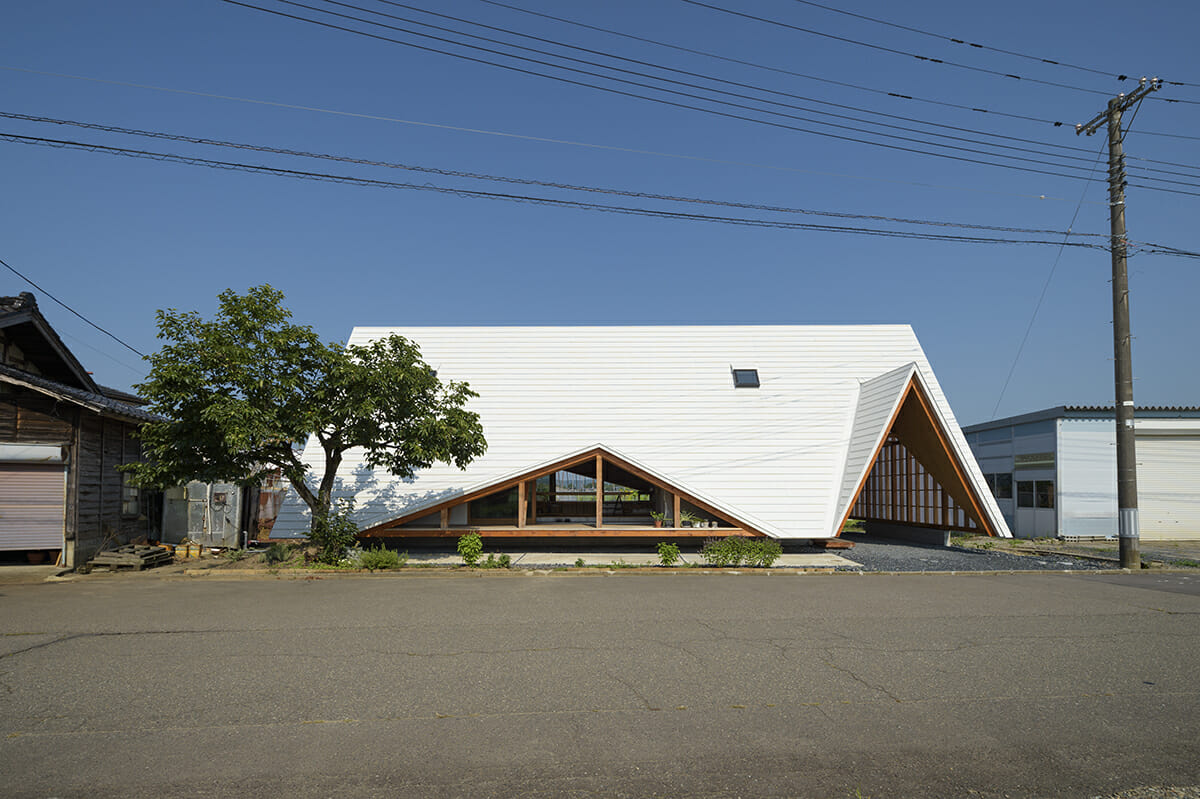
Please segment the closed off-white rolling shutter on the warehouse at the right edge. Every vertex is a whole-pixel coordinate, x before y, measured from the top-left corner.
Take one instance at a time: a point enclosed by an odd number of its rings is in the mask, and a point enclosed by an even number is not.
[[[1200,540],[1200,435],[1138,437],[1138,511],[1146,540]]]

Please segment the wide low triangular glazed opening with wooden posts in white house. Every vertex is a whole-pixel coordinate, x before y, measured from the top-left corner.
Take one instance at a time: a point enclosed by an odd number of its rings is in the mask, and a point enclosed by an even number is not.
[[[658,522],[658,524],[656,524]],[[362,530],[365,537],[762,536],[604,447]]]

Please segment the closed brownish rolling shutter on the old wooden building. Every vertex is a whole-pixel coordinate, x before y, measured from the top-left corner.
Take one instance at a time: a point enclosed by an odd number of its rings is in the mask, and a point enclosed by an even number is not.
[[[0,549],[61,549],[61,463],[0,463]]]

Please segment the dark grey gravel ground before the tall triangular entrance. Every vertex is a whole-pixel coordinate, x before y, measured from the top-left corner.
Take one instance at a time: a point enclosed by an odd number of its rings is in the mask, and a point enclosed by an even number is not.
[[[866,535],[847,535],[846,540],[853,541],[854,548],[838,549],[836,554],[862,564],[862,567],[844,566],[838,571],[1099,571],[1114,567],[1112,564],[1070,555],[1018,554],[1006,551],[1004,542],[997,542],[992,549],[967,549]]]

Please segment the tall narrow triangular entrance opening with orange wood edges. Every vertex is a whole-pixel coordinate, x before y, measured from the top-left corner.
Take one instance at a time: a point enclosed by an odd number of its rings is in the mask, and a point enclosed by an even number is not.
[[[917,528],[1001,535],[971,485],[934,404],[913,373],[872,465],[846,506],[850,518]]]

